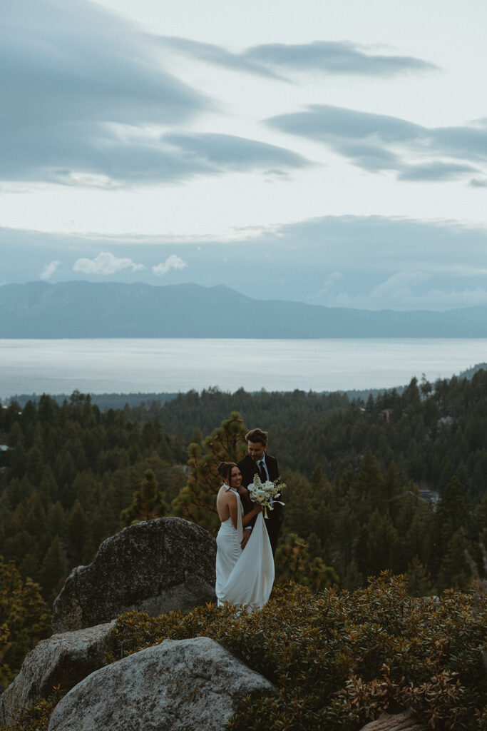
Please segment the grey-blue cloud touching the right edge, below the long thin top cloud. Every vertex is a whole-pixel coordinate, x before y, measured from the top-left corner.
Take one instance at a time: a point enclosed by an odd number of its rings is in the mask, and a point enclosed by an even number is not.
[[[331,105],[266,120],[290,135],[323,143],[368,172],[394,170],[403,181],[448,181],[487,164],[487,126],[425,127],[383,114]],[[460,162],[459,162],[460,161]]]

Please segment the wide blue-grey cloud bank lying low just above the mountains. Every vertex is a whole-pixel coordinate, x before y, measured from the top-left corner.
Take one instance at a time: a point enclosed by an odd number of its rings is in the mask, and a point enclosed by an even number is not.
[[[386,216],[322,216],[221,238],[54,235],[0,227],[0,272],[8,283],[33,281],[46,262],[60,261],[66,275],[77,260],[78,278],[154,284],[153,266],[161,262],[166,279],[188,281],[191,271],[195,284],[225,283],[259,300],[443,311],[487,304],[486,237],[480,224]],[[187,268],[169,268],[172,257]]]

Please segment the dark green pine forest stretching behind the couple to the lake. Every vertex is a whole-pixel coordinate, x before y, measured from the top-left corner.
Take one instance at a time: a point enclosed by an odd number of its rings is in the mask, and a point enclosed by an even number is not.
[[[483,576],[487,371],[367,402],[217,388],[104,411],[77,391],[13,401],[0,409],[0,683],[105,538],[164,515],[216,534],[216,466],[244,455],[256,426],[287,485],[281,588],[363,588],[388,569],[425,596]]]

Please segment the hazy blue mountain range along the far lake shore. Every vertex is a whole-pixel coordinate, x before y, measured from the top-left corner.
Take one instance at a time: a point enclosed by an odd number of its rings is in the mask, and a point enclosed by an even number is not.
[[[0,287],[0,338],[487,338],[487,308],[370,311],[224,286],[39,281]]]

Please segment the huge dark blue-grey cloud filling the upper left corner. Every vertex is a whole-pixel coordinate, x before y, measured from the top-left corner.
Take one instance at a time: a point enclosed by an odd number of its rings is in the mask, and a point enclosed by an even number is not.
[[[155,42],[96,4],[16,0],[1,12],[4,180],[150,178],[155,164],[147,175],[145,166],[158,145],[143,137],[145,127],[183,124],[212,108],[161,69]]]

